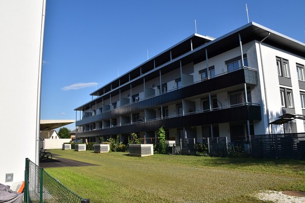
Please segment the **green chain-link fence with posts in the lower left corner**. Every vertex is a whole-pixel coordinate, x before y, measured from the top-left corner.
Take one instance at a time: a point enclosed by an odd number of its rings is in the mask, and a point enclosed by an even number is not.
[[[26,158],[24,202],[84,203],[89,202],[89,199],[82,199]]]

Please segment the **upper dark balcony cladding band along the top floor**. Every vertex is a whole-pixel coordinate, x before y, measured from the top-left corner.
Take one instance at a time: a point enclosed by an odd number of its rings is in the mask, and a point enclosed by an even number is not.
[[[257,72],[247,69],[241,69],[234,71],[223,76],[218,76],[210,80],[205,80],[193,85],[182,87],[177,90],[156,95],[151,98],[147,98],[137,103],[133,103],[124,107],[119,107],[112,111],[108,111],[96,116],[84,118],[76,122],[76,126],[84,125],[90,122],[101,121],[104,119],[116,118],[120,115],[130,115],[132,112],[141,111],[146,108],[156,107],[165,103],[169,103],[175,100],[181,100],[187,97],[195,96],[198,94],[212,92],[215,90],[231,87],[238,84],[257,84]]]

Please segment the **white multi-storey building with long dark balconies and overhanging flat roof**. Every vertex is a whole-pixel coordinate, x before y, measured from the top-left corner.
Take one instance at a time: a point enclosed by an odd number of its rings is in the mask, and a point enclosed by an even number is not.
[[[305,44],[251,22],[214,39],[194,34],[90,95],[75,109],[76,137],[105,141],[132,132],[168,140],[283,133],[269,123],[305,115]],[[288,126],[288,127],[286,127]],[[285,131],[303,132],[303,120]]]

